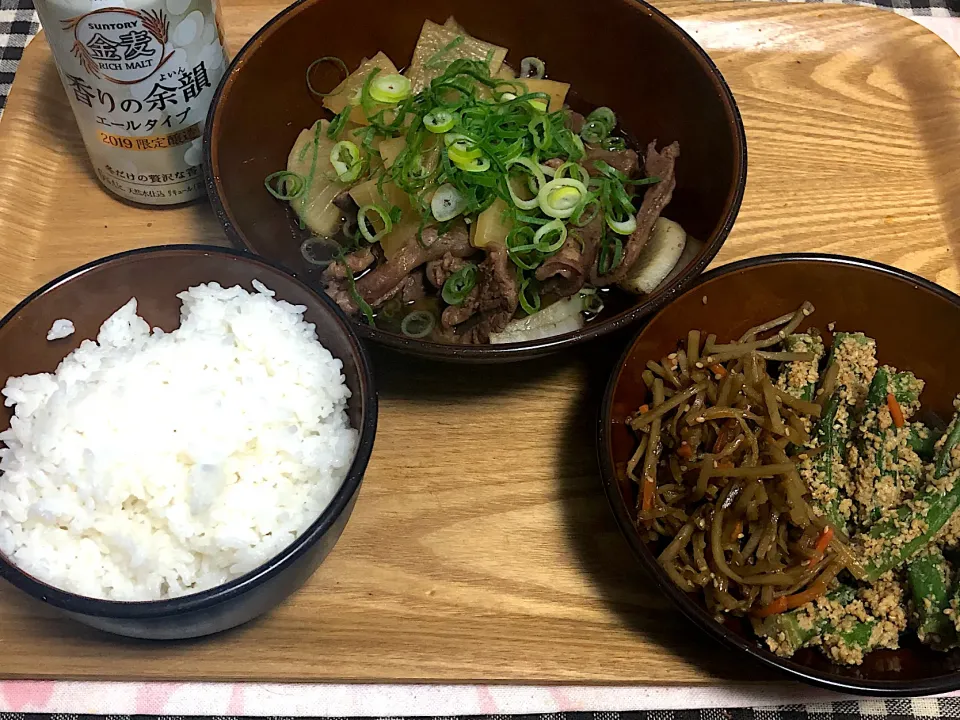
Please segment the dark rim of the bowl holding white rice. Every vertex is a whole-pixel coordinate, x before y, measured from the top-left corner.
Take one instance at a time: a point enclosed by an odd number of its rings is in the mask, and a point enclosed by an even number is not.
[[[47,292],[69,283],[90,271],[108,265],[122,263],[130,258],[149,259],[150,256],[159,254],[182,255],[185,257],[194,255],[219,255],[247,264],[265,266],[275,272],[279,272],[281,275],[285,275],[288,280],[299,285],[311,295],[318,297],[320,306],[323,308],[322,312],[328,312],[334,317],[339,331],[347,338],[350,349],[357,359],[360,404],[363,413],[361,427],[358,428],[359,439],[357,451],[350,464],[347,475],[333,496],[333,499],[330,500],[323,512],[320,513],[320,516],[292,543],[278,554],[239,578],[197,593],[163,600],[138,601],[108,600],[78,595],[38,580],[8,560],[6,555],[0,553],[0,577],[28,595],[67,612],[111,619],[152,620],[205,610],[243,595],[279,575],[303,556],[314,543],[326,534],[349,506],[354,495],[359,491],[364,472],[366,471],[367,464],[370,461],[370,455],[373,451],[374,438],[377,430],[378,396],[376,385],[374,384],[370,357],[363,343],[360,342],[357,334],[354,332],[353,323],[350,322],[336,303],[327,297],[326,293],[318,293],[284,268],[252,253],[216,245],[170,244],[137,248],[107,255],[69,270],[30,293],[30,295],[17,303],[12,310],[4,315],[3,319],[0,320],[0,329],[4,328],[7,323],[12,321],[27,305],[41,295],[45,295]],[[343,360],[341,361],[345,362]]]

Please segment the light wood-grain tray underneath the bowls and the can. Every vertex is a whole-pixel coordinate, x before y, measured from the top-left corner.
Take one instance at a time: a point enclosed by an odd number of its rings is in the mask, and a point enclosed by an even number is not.
[[[718,263],[822,250],[960,289],[960,58],[945,43],[864,8],[657,4],[710,51],[747,126],[747,194]],[[231,49],[280,8],[226,7]],[[0,123],[0,311],[87,260],[179,241],[223,242],[206,204],[144,210],[97,186],[47,44],[34,41]],[[138,643],[53,617],[3,585],[0,675],[769,678],[667,606],[614,526],[594,433],[619,350],[484,369],[378,352],[380,428],[360,501],[289,602],[218,637]]]

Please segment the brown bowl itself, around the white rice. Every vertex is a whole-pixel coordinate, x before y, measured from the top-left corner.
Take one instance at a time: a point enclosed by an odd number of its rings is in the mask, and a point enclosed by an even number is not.
[[[343,362],[352,396],[350,424],[360,433],[356,457],[343,485],[320,517],[286,550],[246,575],[193,595],[149,602],[119,602],[58,590],[26,574],[0,554],[0,577],[86,625],[129,637],[172,640],[220,632],[252,620],[282,602],[313,574],[333,549],[347,523],[373,449],[377,393],[370,362],[351,323],[325,295],[283,270],[245,253],[197,245],[133,250],[71,270],[43,286],[0,320],[0,383],[11,376],[53,372],[65,355],[131,297],[152,327],[180,325],[177,293],[206,282],[252,290],[260,280],[277,298],[307,307],[323,345]],[[69,318],[76,332],[48,342],[57,318]],[[10,408],[0,407],[0,432],[10,426]]]

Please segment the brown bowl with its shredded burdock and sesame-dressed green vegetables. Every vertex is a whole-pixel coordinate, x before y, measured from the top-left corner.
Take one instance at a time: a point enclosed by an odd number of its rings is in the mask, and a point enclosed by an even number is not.
[[[958,327],[952,292],[817,254],[717,268],[650,320],[598,454],[628,544],[687,618],[833,690],[960,688]]]

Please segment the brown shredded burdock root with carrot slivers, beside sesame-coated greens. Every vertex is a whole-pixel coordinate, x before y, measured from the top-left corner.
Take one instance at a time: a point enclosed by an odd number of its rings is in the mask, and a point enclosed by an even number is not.
[[[810,507],[788,454],[809,443],[821,408],[784,392],[769,371],[771,362],[817,359],[779,349],[812,312],[804,303],[727,344],[708,336],[701,345],[694,331],[647,366],[653,392],[630,421],[639,445],[627,466],[640,485],[638,523],[672,538],[661,566],[684,590],[702,590],[713,612],[799,607],[855,564],[836,551],[845,541]]]

